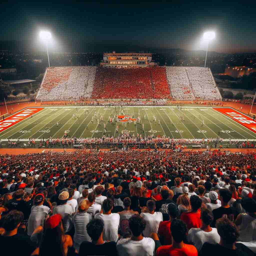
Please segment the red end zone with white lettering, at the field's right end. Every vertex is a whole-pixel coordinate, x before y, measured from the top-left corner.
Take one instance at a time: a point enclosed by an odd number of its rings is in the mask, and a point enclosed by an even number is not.
[[[213,109],[228,116],[229,118],[233,119],[234,121],[238,122],[239,124],[243,125],[244,127],[256,133],[256,121],[253,121],[251,117],[230,108],[213,108]]]

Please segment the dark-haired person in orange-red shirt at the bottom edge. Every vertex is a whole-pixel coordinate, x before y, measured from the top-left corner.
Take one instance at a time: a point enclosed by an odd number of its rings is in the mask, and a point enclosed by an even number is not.
[[[156,251],[156,256],[197,256],[196,247],[183,242],[187,233],[186,223],[182,220],[174,219],[170,229],[172,244],[159,247]]]

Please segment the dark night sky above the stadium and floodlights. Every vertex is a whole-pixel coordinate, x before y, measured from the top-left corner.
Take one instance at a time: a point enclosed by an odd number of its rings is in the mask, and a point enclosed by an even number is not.
[[[53,36],[49,48],[57,52],[111,45],[205,50],[202,35],[214,30],[210,51],[256,52],[256,1],[137,3],[9,1],[1,5],[0,40],[28,40],[27,49],[40,50],[39,31],[47,29]]]

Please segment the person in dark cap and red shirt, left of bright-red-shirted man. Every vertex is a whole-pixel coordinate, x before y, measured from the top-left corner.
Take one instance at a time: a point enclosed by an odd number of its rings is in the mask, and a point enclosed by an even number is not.
[[[161,221],[158,228],[158,237],[162,245],[172,243],[171,222],[179,215],[179,209],[174,203],[168,204],[169,220]]]

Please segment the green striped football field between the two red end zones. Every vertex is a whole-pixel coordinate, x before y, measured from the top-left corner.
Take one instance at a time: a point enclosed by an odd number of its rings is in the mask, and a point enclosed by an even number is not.
[[[223,139],[256,139],[256,133],[248,130],[246,127],[231,120],[227,116],[213,110],[209,107],[118,107],[116,112],[114,107],[77,107],[77,118],[72,116],[76,113],[76,107],[46,107],[44,110],[36,113],[33,118],[27,118],[22,122],[9,127],[0,133],[0,139],[28,139],[35,138],[40,140],[42,137],[61,138],[65,131],[70,137],[87,138],[102,137],[104,123],[106,124],[106,136],[117,137],[116,126],[118,132],[121,133],[125,129],[121,122],[116,122],[114,115],[122,115],[122,109],[125,109],[126,115],[134,115],[137,118],[140,110],[141,122],[136,126],[134,122],[126,123],[126,129],[131,134],[142,134],[142,123],[144,123],[146,136],[154,134],[155,136],[169,136],[170,138],[216,138]],[[94,112],[103,115],[103,122],[97,124],[97,118],[91,122]],[[184,121],[179,119],[179,115],[185,113]],[[145,115],[145,116],[144,116]],[[154,122],[153,115],[157,121]],[[109,116],[114,118],[114,122],[108,121]],[[159,123],[159,121],[160,123]],[[204,124],[202,124],[204,120]],[[57,127],[58,123],[58,127]],[[88,125],[88,129],[86,126]]]

